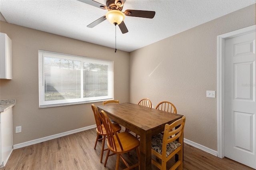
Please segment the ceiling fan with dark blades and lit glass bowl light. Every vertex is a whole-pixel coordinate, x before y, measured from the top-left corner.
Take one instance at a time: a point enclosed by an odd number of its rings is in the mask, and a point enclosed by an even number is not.
[[[92,22],[87,27],[93,28],[94,26],[100,24],[101,22],[107,19],[111,24],[114,24],[115,26],[118,25],[123,34],[128,32],[128,29],[124,24],[125,15],[142,17],[142,18],[154,18],[156,14],[155,11],[144,11],[144,10],[125,10],[124,12],[122,12],[124,2],[126,0],[106,0],[106,5],[100,4],[99,2],[96,2],[94,0],[78,0],[78,1],[95,6],[97,8],[108,10],[105,16],[102,16],[98,20]]]

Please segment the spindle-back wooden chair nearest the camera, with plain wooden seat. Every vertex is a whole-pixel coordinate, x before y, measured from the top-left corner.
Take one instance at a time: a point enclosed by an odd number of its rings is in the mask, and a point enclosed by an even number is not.
[[[127,166],[127,170],[132,169],[136,166],[140,166],[140,151],[138,147],[140,146],[140,141],[130,134],[129,132],[121,132],[117,133],[114,130],[114,125],[111,123],[110,119],[108,118],[108,115],[104,111],[101,111],[102,115],[102,122],[104,124],[104,127],[106,129],[107,137],[108,137],[108,153],[105,159],[104,167],[106,167],[106,163],[108,160],[108,156],[112,156],[114,154],[117,154],[117,160],[116,160],[116,170],[119,168],[119,160],[120,158],[124,162],[124,164]],[[114,132],[114,133],[113,133]],[[134,164],[132,166],[129,166],[126,160],[122,157],[121,154],[129,153],[131,150],[136,150],[138,155],[139,162],[137,164]],[[110,151],[112,154],[110,154]]]

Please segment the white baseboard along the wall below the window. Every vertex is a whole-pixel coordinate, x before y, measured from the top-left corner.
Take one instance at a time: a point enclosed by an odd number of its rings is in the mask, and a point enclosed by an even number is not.
[[[28,142],[23,142],[23,143],[20,143],[20,144],[14,144],[13,149],[23,148],[25,146],[30,146],[32,144],[45,142],[47,140],[52,140],[52,139],[55,139],[55,138],[59,138],[59,137],[62,137],[62,136],[67,136],[69,134],[74,134],[74,133],[77,133],[77,132],[82,132],[84,130],[89,130],[91,128],[96,128],[96,125],[91,125],[91,126],[88,126],[88,127],[78,128],[78,129],[75,129],[75,130],[70,130],[70,131],[67,131],[67,132],[54,134],[54,135],[51,135],[51,136],[46,136],[46,137],[35,139],[35,140],[30,140]]]

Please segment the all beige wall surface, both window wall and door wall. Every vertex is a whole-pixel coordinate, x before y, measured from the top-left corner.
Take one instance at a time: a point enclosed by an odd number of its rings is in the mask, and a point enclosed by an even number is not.
[[[13,127],[22,126],[22,133],[14,132],[14,144],[95,124],[90,103],[38,109],[42,49],[114,61],[114,99],[137,103],[148,97],[154,107],[171,101],[187,117],[185,138],[217,150],[217,99],[206,98],[206,90],[217,90],[217,36],[255,22],[253,5],[131,53],[114,53],[1,21],[0,32],[12,39],[13,79],[0,80],[0,99],[16,99]]]

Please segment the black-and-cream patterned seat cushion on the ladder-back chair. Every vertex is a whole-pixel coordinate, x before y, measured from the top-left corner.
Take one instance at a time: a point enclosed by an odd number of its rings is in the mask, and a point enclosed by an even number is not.
[[[151,140],[151,148],[160,154],[162,154],[163,137],[164,137],[164,135],[158,133],[158,134],[152,136],[152,140]],[[180,145],[181,144],[176,140],[168,143],[166,146],[166,157],[168,157]]]

